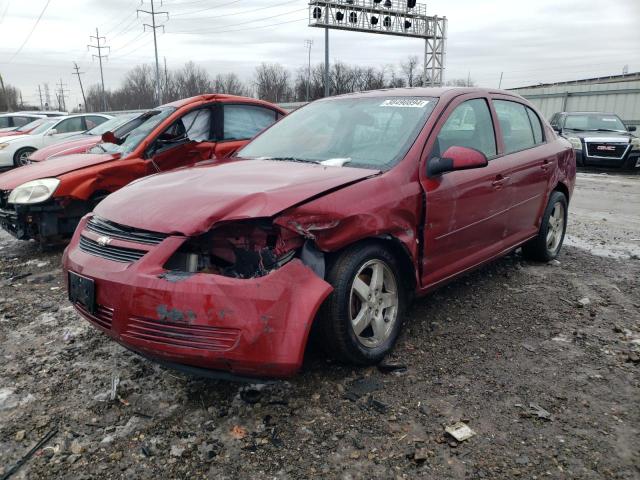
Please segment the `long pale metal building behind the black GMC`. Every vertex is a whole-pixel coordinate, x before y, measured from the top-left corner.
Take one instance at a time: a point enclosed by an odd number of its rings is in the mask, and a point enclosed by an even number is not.
[[[550,118],[556,112],[598,111],[640,125],[640,72],[512,88]]]

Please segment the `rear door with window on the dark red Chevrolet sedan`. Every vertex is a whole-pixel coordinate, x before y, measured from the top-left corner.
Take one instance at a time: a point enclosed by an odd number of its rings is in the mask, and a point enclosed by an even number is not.
[[[494,97],[502,152],[509,164],[511,211],[507,244],[517,244],[538,231],[556,152],[547,144],[542,122],[528,106],[509,97]]]

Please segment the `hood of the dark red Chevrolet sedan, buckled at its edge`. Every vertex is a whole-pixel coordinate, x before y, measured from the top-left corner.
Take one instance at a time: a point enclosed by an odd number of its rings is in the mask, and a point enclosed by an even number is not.
[[[197,166],[129,184],[100,202],[95,213],[121,225],[191,236],[217,222],[271,217],[377,173],[273,160]]]

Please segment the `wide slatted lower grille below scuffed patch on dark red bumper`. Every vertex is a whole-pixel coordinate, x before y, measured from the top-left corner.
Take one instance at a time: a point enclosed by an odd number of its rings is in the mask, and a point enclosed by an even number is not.
[[[129,318],[123,333],[123,337],[130,339],[210,352],[232,349],[239,336],[237,329],[159,322],[142,317]]]

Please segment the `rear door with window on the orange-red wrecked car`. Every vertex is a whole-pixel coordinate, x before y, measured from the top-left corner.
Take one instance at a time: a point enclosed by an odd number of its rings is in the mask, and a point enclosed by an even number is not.
[[[216,116],[220,139],[216,145],[216,157],[229,157],[281,116],[276,110],[262,105],[221,103]]]

